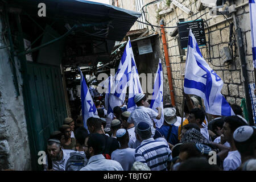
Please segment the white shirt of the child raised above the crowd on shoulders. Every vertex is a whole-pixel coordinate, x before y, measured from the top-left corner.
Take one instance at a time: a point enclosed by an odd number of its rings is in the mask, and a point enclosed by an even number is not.
[[[158,113],[156,111],[152,110],[151,108],[139,106],[137,107],[133,113],[131,113],[130,117],[128,118],[127,122],[134,123],[134,126],[137,127],[139,122],[147,122],[148,125],[151,126],[151,137],[154,137],[155,135],[155,128],[153,125],[153,119],[155,119],[158,116]]]

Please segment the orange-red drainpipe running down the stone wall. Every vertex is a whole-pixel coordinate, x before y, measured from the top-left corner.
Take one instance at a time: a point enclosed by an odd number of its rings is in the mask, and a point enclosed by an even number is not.
[[[161,27],[162,42],[163,42],[163,47],[164,47],[164,56],[166,58],[166,67],[167,67],[167,75],[168,75],[168,81],[169,81],[171,103],[172,103],[173,106],[175,106],[174,88],[172,86],[172,72],[171,72],[168,49],[167,49],[167,43],[166,43],[166,33],[164,32],[164,27],[163,26],[164,26],[164,20],[161,19],[160,20],[160,27]]]

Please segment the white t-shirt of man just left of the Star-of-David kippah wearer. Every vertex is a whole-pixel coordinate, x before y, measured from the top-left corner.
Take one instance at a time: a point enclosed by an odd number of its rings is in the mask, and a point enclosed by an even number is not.
[[[238,150],[229,151],[228,156],[224,159],[223,170],[234,171],[241,165],[241,155]]]

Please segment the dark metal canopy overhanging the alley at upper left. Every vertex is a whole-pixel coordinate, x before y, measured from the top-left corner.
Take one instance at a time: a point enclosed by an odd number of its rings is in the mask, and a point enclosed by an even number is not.
[[[46,17],[38,16],[39,3],[46,5]],[[122,41],[141,16],[135,11],[83,0],[9,0],[8,6],[21,9],[22,15],[31,16],[39,24],[53,24],[53,29],[60,35],[78,25],[79,27],[69,34],[67,44],[72,49],[79,45],[85,47],[86,53],[72,59],[65,57],[64,62],[83,62],[82,65],[96,60],[108,61],[115,41]]]

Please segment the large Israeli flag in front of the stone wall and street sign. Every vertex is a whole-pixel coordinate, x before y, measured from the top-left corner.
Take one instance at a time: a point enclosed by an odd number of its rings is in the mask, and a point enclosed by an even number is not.
[[[235,115],[221,94],[222,86],[223,81],[204,60],[195,36],[190,29],[185,65],[184,92],[203,98],[205,111],[209,114]]]

